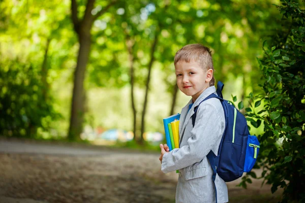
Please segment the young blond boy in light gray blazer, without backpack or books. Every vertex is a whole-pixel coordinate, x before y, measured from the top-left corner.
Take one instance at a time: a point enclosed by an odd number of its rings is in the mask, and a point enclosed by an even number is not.
[[[181,48],[174,59],[177,85],[183,93],[192,96],[181,110],[179,147],[169,151],[161,144],[160,161],[164,173],[179,170],[176,203],[215,202],[212,168],[206,155],[210,150],[217,155],[225,130],[223,107],[217,98],[204,101],[197,110],[193,127],[194,107],[211,93],[216,94],[211,52],[200,44]],[[228,202],[226,183],[216,175],[217,202]]]

